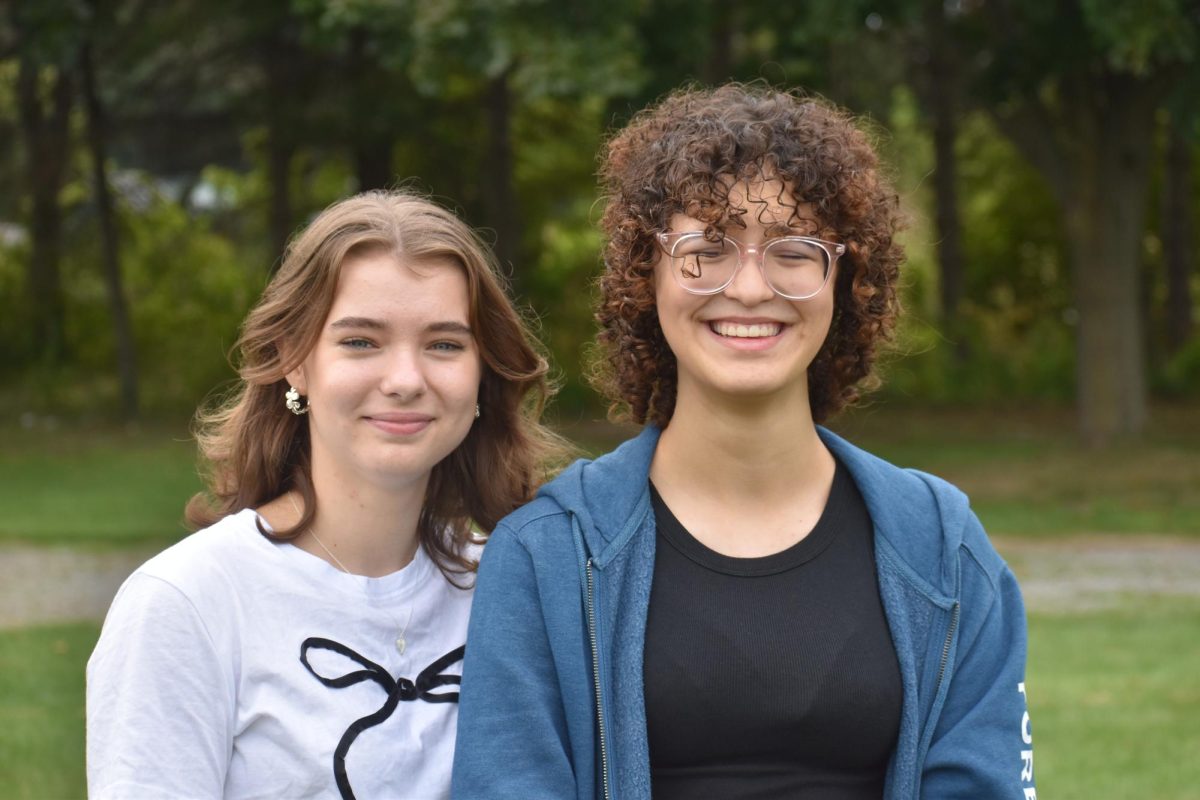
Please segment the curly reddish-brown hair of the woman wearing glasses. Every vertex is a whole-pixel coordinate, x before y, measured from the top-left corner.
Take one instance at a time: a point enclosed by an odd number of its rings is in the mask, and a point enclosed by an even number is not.
[[[899,313],[902,248],[899,198],[866,134],[832,104],[757,85],[679,90],[637,115],[601,152],[607,236],[596,319],[602,360],[593,383],[612,413],[665,426],[676,405],[676,357],[654,300],[654,235],[685,213],[710,235],[744,227],[733,185],[779,179],[791,223],[815,216],[818,235],[846,245],[834,284],[834,317],[809,366],[812,419],[859,397],[880,343]]]

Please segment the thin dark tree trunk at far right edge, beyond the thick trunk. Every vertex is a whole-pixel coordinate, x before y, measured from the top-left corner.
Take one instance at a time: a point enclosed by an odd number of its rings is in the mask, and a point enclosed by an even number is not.
[[[1166,353],[1178,353],[1192,336],[1192,149],[1172,116],[1166,134],[1163,254],[1166,264]]]

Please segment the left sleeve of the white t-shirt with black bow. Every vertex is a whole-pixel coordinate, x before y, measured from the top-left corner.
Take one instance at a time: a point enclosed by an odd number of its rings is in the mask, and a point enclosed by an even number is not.
[[[145,573],[121,587],[88,662],[92,800],[223,794],[235,678],[222,650],[176,587]]]

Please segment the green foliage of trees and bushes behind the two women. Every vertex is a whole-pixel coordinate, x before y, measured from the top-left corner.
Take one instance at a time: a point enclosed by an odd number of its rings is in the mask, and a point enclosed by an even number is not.
[[[97,37],[101,94],[114,122],[121,263],[151,414],[191,409],[232,374],[226,351],[238,321],[280,258],[268,224],[277,188],[269,145],[277,139],[292,148],[287,200],[295,225],[361,185],[365,152],[384,175],[430,190],[476,225],[500,228],[488,218],[496,205],[488,190],[511,179],[521,242],[508,249],[518,290],[540,315],[565,378],[560,402],[569,411],[594,410],[599,401],[582,375],[601,267],[595,152],[606,128],[646,102],[688,80],[728,77],[804,84],[871,115],[913,221],[904,271],[910,317],[898,347],[907,357],[888,360],[890,396],[1066,399],[1078,313],[1064,217],[1044,176],[994,119],[1022,98],[1052,107],[1070,94],[1061,78],[1073,71],[1177,71],[1195,58],[1198,38],[1184,0],[1018,0],[1006,6],[1008,17],[994,4],[942,7],[962,56],[959,77],[970,86],[962,101],[978,107],[962,109],[958,139],[966,300],[959,319],[941,320],[930,121],[911,74],[929,58],[928,4],[265,0],[233,13],[229,0],[214,2],[120,0],[83,20],[82,6],[53,0],[0,16],[0,43],[17,41],[14,24],[38,23],[26,44],[47,77],[70,67],[84,22]],[[0,136],[13,138],[16,55],[0,47]],[[511,102],[510,175],[493,169],[488,149],[496,132],[485,98],[499,77]],[[1181,84],[1171,109],[1190,121],[1195,138],[1200,95],[1189,86]],[[0,410],[115,408],[90,164],[78,136],[73,146],[59,242],[70,360],[58,367],[38,360],[25,302],[30,246],[19,236],[0,243]],[[25,166],[20,148],[0,155],[7,190],[0,223],[28,233]],[[516,235],[497,236],[505,233]],[[1160,270],[1147,282],[1153,332]],[[1200,395],[1194,353],[1152,359],[1153,389]]]

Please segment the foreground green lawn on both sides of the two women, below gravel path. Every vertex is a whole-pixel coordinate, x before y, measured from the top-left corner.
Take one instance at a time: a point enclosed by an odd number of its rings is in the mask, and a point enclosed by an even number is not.
[[[1200,796],[1200,602],[1034,614],[1039,795]],[[95,625],[0,632],[0,795],[84,796],[83,669]]]

